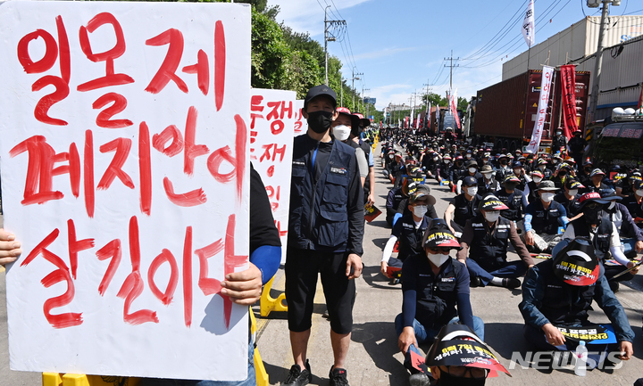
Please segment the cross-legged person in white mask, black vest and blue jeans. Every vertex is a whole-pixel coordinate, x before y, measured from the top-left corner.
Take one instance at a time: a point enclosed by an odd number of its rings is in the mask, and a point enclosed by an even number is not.
[[[520,287],[517,277],[524,275],[534,265],[514,221],[500,216],[501,210],[505,209],[504,202],[489,194],[480,201],[478,214],[467,220],[464,226],[460,239],[462,250],[458,250],[456,256],[469,269],[473,287],[487,286],[489,283],[507,288]],[[509,242],[514,245],[522,261],[506,260]]]

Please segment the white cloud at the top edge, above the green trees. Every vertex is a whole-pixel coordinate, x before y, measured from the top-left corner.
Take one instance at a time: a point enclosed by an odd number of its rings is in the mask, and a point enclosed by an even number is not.
[[[335,2],[337,9],[328,0],[320,0],[319,3],[317,0],[269,0],[268,6],[280,6],[277,21],[284,21],[296,32],[308,32],[313,37],[323,34],[324,10],[321,6],[326,6],[326,3],[331,5],[328,11],[329,19],[335,19],[340,17],[338,11],[341,12],[368,1],[371,0],[338,0]]]

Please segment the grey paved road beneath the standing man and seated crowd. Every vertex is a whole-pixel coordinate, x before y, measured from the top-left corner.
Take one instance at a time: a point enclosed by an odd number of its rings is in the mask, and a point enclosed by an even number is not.
[[[384,201],[390,185],[381,177],[380,168],[376,167],[376,204],[384,209]],[[436,197],[438,214],[447,209],[448,200],[453,194],[444,187],[430,183],[431,192]],[[383,215],[382,215],[383,217]],[[1,221],[1,220],[0,220]],[[388,240],[390,230],[385,226],[383,218],[377,218],[366,225],[364,236],[365,269],[363,277],[357,279],[357,299],[355,301],[355,324],[350,353],[347,361],[348,379],[353,386],[374,385],[406,385],[407,374],[402,365],[402,356],[397,352],[397,337],[393,320],[400,312],[402,294],[399,286],[388,285],[388,279],[380,274],[381,250]],[[517,259],[515,255],[512,259]],[[283,270],[275,279],[273,296],[283,291]],[[634,358],[625,363],[614,374],[600,371],[589,372],[587,377],[580,380],[573,370],[556,370],[553,374],[542,374],[532,368],[522,369],[514,365],[510,370],[513,377],[500,374],[489,379],[489,385],[631,385],[639,377],[643,377],[643,342],[641,341],[641,308],[643,305],[643,275],[638,275],[627,286],[622,285],[617,294],[630,317],[630,324],[637,333],[634,343]],[[313,384],[327,385],[328,372],[332,365],[330,350],[330,325],[321,315],[325,310],[323,293],[319,287],[315,298],[313,314],[313,329],[308,350],[308,357],[313,369]],[[21,373],[9,370],[6,333],[6,307],[4,302],[4,273],[0,272],[0,386],[4,385],[39,385],[40,374]],[[522,338],[522,316],[518,311],[521,301],[519,290],[503,288],[473,288],[472,307],[476,316],[480,316],[486,324],[486,340],[497,353],[500,361],[510,367],[510,359],[514,351],[524,356],[529,350]],[[598,309],[598,308],[597,308]],[[258,316],[258,306],[255,306]],[[591,312],[591,320],[607,322],[600,312]],[[288,325],[284,313],[272,313],[266,319],[259,319],[258,347],[263,362],[270,375],[271,384],[283,381],[290,365],[292,356],[288,342]],[[424,347],[423,349],[428,349]]]

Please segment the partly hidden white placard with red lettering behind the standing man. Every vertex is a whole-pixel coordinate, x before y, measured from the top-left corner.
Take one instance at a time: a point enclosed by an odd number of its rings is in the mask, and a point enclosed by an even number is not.
[[[301,111],[296,107],[294,91],[253,88],[250,101],[250,160],[268,193],[283,246],[281,263],[285,263],[292,144]]]

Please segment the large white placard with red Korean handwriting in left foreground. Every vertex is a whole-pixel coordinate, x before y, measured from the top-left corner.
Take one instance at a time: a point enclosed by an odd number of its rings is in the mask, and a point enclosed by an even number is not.
[[[250,6],[0,4],[14,370],[241,380]]]

